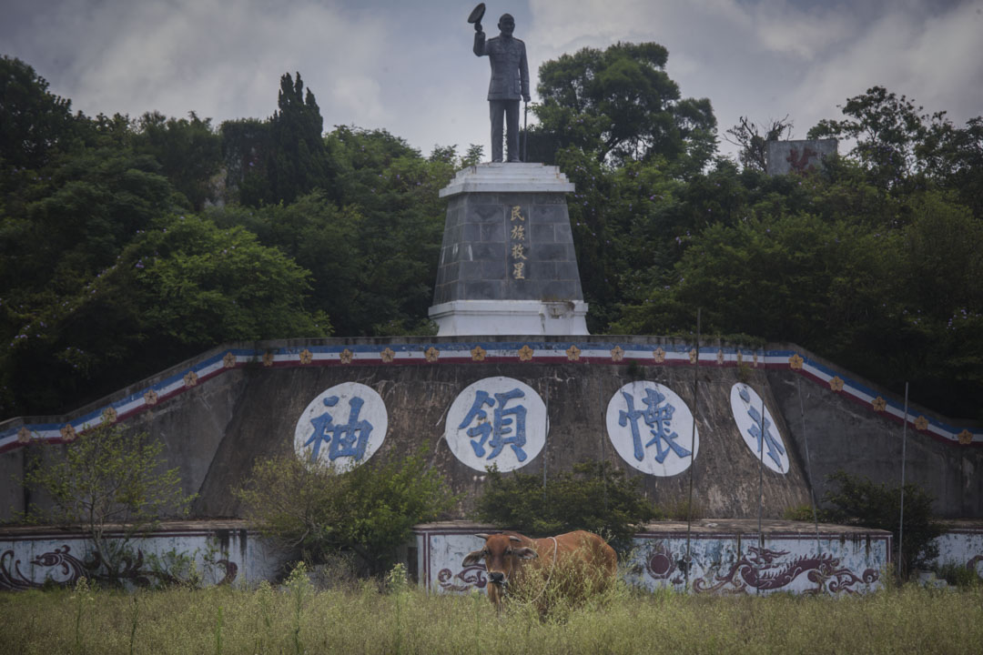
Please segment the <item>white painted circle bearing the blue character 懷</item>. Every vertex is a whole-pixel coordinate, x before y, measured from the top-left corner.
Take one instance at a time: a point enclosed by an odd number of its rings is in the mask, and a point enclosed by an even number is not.
[[[607,403],[607,437],[622,460],[660,477],[686,470],[700,451],[693,413],[657,382],[629,382],[614,393]]]

